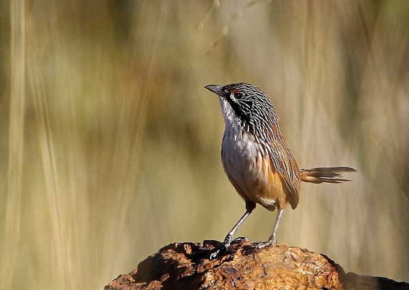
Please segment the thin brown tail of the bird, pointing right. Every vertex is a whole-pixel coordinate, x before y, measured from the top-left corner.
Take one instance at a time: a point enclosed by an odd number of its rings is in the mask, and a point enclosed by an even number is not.
[[[355,172],[351,167],[317,167],[312,169],[301,169],[300,179],[312,183],[342,183],[350,181],[342,178],[344,172]]]

